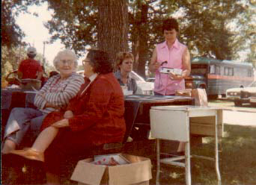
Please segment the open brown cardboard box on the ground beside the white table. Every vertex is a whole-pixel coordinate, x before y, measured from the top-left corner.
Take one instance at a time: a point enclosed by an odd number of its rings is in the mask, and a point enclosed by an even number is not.
[[[152,178],[151,161],[145,157],[118,154],[129,163],[104,166],[92,163],[94,159],[79,160],[71,180],[78,184],[98,185],[148,185]]]

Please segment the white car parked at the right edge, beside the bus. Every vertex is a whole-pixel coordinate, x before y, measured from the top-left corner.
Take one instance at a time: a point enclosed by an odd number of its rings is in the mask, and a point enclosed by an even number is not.
[[[235,106],[249,103],[256,107],[256,81],[248,87],[231,88],[226,91],[226,98],[234,101]]]

